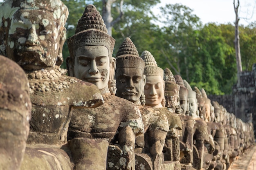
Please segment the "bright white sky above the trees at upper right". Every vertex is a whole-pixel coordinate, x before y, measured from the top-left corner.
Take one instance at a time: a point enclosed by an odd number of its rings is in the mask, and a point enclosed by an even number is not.
[[[235,0],[236,2],[237,0]],[[164,7],[165,4],[183,4],[193,10],[203,24],[215,22],[218,24],[234,23],[236,19],[233,0],[161,0],[161,4],[154,7]],[[240,0],[239,24],[247,25],[256,21],[256,0]],[[250,20],[245,20],[248,18]]]

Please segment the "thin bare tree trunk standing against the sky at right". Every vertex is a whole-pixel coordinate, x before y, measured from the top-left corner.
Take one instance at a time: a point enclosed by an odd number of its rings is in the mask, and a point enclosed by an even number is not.
[[[239,7],[239,0],[237,1],[237,4],[235,5],[235,0],[233,1],[234,4],[234,10],[236,13],[236,22],[235,22],[235,40],[234,45],[236,49],[236,67],[237,67],[237,86],[240,86],[240,73],[243,71],[242,69],[242,61],[241,61],[241,53],[240,53],[240,38],[239,38],[239,29],[238,29],[238,7]]]

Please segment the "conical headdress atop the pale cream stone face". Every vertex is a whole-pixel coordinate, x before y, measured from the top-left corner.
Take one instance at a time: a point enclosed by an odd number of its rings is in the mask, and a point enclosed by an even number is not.
[[[155,61],[155,58],[149,51],[143,51],[140,57],[145,62],[144,75],[146,76],[161,75],[161,77],[164,78],[163,69],[157,66],[157,62]]]

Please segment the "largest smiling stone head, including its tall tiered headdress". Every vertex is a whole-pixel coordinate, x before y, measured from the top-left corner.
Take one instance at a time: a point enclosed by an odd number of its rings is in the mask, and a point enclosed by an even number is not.
[[[67,45],[68,75],[95,84],[101,93],[108,93],[109,79],[115,74],[116,61],[112,58],[115,39],[108,35],[94,5],[85,7],[76,34],[67,39]]]

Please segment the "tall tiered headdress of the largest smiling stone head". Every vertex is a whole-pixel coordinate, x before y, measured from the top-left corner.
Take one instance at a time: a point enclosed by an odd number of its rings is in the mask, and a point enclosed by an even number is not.
[[[115,39],[108,35],[106,25],[96,7],[90,4],[85,7],[83,16],[78,21],[76,34],[67,39],[68,49],[72,58],[81,46],[102,45],[108,48],[108,56],[112,57]]]

